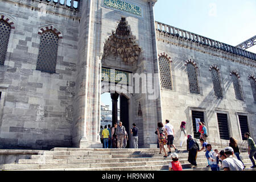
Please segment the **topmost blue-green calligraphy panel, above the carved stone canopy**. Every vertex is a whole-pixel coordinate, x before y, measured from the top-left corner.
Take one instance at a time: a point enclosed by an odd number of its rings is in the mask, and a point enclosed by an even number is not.
[[[104,0],[104,5],[141,16],[141,7],[120,0]]]

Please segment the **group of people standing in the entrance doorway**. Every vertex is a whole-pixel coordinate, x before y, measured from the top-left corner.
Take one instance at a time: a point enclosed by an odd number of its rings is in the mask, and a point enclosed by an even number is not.
[[[135,123],[133,123],[130,133],[132,134],[134,148],[138,148],[138,127]],[[111,125],[105,126],[105,129],[101,126],[100,138],[102,148],[126,148],[127,141],[129,140],[122,122],[119,122],[119,125],[114,123],[113,127]]]

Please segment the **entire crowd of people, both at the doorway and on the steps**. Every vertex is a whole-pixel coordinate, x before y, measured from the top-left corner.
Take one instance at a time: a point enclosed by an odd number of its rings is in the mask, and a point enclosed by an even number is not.
[[[135,123],[133,123],[133,127],[130,129],[130,133],[132,134],[133,148],[138,148],[138,127]],[[187,140],[188,162],[191,163],[192,168],[197,168],[196,158],[198,152],[204,151],[208,161],[207,167],[210,167],[212,171],[220,171],[221,166],[224,171],[243,171],[243,169],[245,169],[245,164],[242,162],[240,148],[238,147],[236,139],[230,137],[229,146],[219,152],[217,149],[213,150],[212,145],[207,142],[208,134],[204,122],[199,122],[198,133],[200,135],[199,141],[201,147],[199,147],[199,144],[192,135],[187,134],[186,122],[181,122],[179,147],[182,147],[184,141]],[[166,119],[166,125],[163,125],[162,122],[158,123],[158,128],[156,129],[155,134],[158,135],[158,147],[160,148],[159,154],[162,154],[163,151],[164,158],[167,158],[168,154],[171,155],[172,162],[169,165],[169,170],[182,171],[179,155],[177,154],[178,150],[174,144],[174,126],[172,126],[170,121]],[[101,126],[100,136],[103,148],[125,148],[129,139],[122,122],[119,122],[119,125],[115,123],[113,127],[110,125],[105,126],[105,129]],[[247,150],[251,163],[253,163],[251,168],[256,168],[254,161],[254,159],[256,159],[255,142],[250,137],[249,133],[245,133],[244,137],[247,139]],[[166,145],[168,152],[165,148]],[[171,147],[174,147],[175,151],[173,153],[171,152]],[[234,158],[234,156],[236,156],[236,158]]]

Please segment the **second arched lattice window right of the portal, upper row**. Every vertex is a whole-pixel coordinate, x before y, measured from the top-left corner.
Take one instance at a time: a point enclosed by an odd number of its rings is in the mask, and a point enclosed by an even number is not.
[[[188,73],[188,82],[189,82],[190,93],[200,94],[199,86],[198,86],[198,82],[197,82],[197,76],[196,76],[196,68],[192,63],[187,64],[187,73]]]

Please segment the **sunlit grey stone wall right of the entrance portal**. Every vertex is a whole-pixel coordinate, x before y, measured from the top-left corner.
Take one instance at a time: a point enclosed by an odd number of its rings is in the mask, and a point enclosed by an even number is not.
[[[157,29],[157,28],[156,28]],[[255,137],[256,104],[251,91],[249,75],[255,76],[255,60],[192,42],[179,35],[156,30],[159,56],[166,56],[171,63],[172,90],[161,90],[163,121],[170,119],[175,127],[175,143],[180,135],[181,121],[187,121],[187,133],[193,134],[191,110],[204,111],[209,137],[220,138],[216,113],[228,114],[229,136],[242,140],[238,115],[247,115],[249,131]],[[189,92],[185,61],[195,61],[200,94]],[[223,98],[214,95],[210,66],[220,69]],[[243,101],[236,100],[231,71],[237,71]]]

